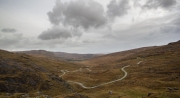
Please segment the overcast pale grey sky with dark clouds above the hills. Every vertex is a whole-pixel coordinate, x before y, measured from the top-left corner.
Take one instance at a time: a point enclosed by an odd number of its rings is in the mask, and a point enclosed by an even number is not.
[[[180,0],[0,0],[0,49],[112,53],[180,40]]]

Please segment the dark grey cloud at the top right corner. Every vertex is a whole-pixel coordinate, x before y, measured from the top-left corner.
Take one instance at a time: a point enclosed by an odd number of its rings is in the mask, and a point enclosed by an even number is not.
[[[158,7],[168,9],[176,5],[176,3],[176,0],[148,0],[143,7],[148,9],[157,9]]]

